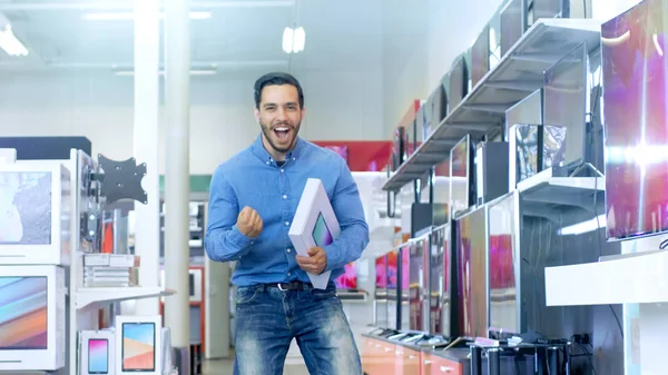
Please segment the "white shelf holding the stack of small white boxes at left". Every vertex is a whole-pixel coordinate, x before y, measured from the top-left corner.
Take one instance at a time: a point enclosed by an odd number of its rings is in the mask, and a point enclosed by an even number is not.
[[[84,308],[95,303],[116,303],[127,299],[163,297],[175,294],[175,290],[161,287],[118,287],[118,288],[78,288],[77,308]]]

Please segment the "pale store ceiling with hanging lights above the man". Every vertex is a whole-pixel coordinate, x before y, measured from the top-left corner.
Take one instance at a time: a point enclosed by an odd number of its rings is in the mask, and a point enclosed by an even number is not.
[[[193,67],[287,67],[345,70],[371,67],[380,57],[382,0],[191,0]],[[130,12],[132,1],[0,0],[0,13],[29,49],[28,57],[0,50],[0,70],[131,68],[132,20],[88,20],[91,12]],[[304,52],[282,50],[283,30],[306,30]],[[163,24],[163,22],[160,22]],[[164,36],[163,32],[160,32]],[[376,66],[376,65],[373,65]]]

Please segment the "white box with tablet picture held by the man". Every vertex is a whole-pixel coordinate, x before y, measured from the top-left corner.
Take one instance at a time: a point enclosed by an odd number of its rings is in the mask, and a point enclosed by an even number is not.
[[[316,246],[324,248],[340,234],[338,219],[322,181],[310,178],[288,231],[295,250],[301,256],[307,256],[308,249]],[[330,270],[321,275],[308,274],[308,278],[315,288],[325,289],[331,274]]]

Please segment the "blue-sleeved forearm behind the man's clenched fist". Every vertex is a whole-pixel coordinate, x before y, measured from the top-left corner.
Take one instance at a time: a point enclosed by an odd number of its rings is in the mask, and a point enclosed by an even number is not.
[[[244,236],[236,226],[230,229],[210,229],[205,236],[206,254],[214,261],[233,261],[244,256],[254,240]]]

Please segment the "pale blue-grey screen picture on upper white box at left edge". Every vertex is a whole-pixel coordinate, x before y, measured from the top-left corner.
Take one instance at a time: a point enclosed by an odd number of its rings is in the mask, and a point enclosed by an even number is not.
[[[51,244],[51,174],[0,172],[0,245]]]

